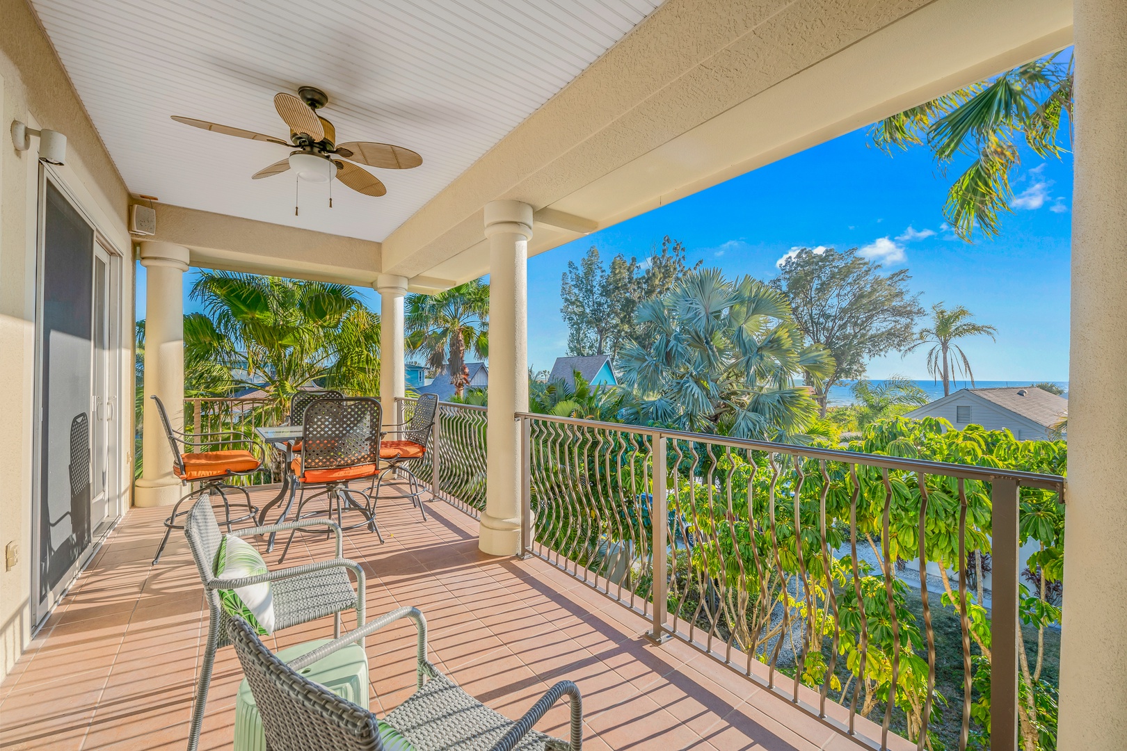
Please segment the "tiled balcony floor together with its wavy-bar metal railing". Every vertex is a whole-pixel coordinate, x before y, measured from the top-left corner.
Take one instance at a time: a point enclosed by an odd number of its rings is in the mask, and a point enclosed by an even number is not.
[[[258,418],[231,401],[211,412],[228,423]],[[410,418],[412,400],[397,405],[400,419]],[[186,406],[201,428],[198,400]],[[553,682],[570,679],[584,696],[585,748],[593,749],[909,749],[921,727],[939,740],[959,735],[958,718],[961,748],[980,730],[971,713],[978,694],[940,698],[937,667],[957,661],[964,685],[978,680],[977,619],[993,616],[985,623],[994,644],[1017,641],[1006,624],[1017,623],[1019,604],[1019,495],[1059,502],[1062,477],[547,415],[520,420],[529,520],[522,555],[479,551],[487,412],[460,404],[440,405],[432,458],[412,467],[431,485],[428,519],[406,498],[389,498],[379,506],[385,544],[366,531],[346,536],[345,557],[369,576],[369,617],[419,607],[434,663],[470,694],[516,718]],[[905,493],[913,485],[919,495]],[[258,506],[274,494],[254,491]],[[944,508],[944,499],[955,506]],[[919,587],[937,535],[952,531],[965,549],[983,527],[975,518],[983,508],[994,530],[992,614],[975,605],[966,556],[944,575],[949,600]],[[150,565],[166,513],[133,509],[125,517],[6,680],[0,712],[37,713],[6,723],[6,748],[184,743],[207,615],[179,533]],[[898,573],[880,563],[888,543],[879,551],[871,540],[894,539],[890,524],[921,530],[920,557]],[[737,537],[738,553],[728,544]],[[331,551],[319,537],[295,545],[286,565]],[[267,561],[277,563],[279,551]],[[919,593],[908,596],[913,579]],[[922,618],[908,613],[909,597]],[[961,642],[933,628],[941,616],[958,619]],[[284,649],[329,628],[323,620],[287,629],[268,645]],[[408,624],[369,642],[378,714],[414,691],[414,638]],[[858,638],[860,652],[851,652]],[[225,748],[232,737],[242,672],[232,650],[220,658],[202,748]],[[1005,650],[993,651],[992,665],[994,676],[1018,676],[1017,656]],[[891,707],[872,700],[889,680]],[[1006,724],[1015,731],[1017,714],[1005,708],[1017,682],[994,681],[991,694],[995,737]],[[941,701],[955,731],[939,727]],[[566,735],[567,722],[560,705],[538,727]]]

